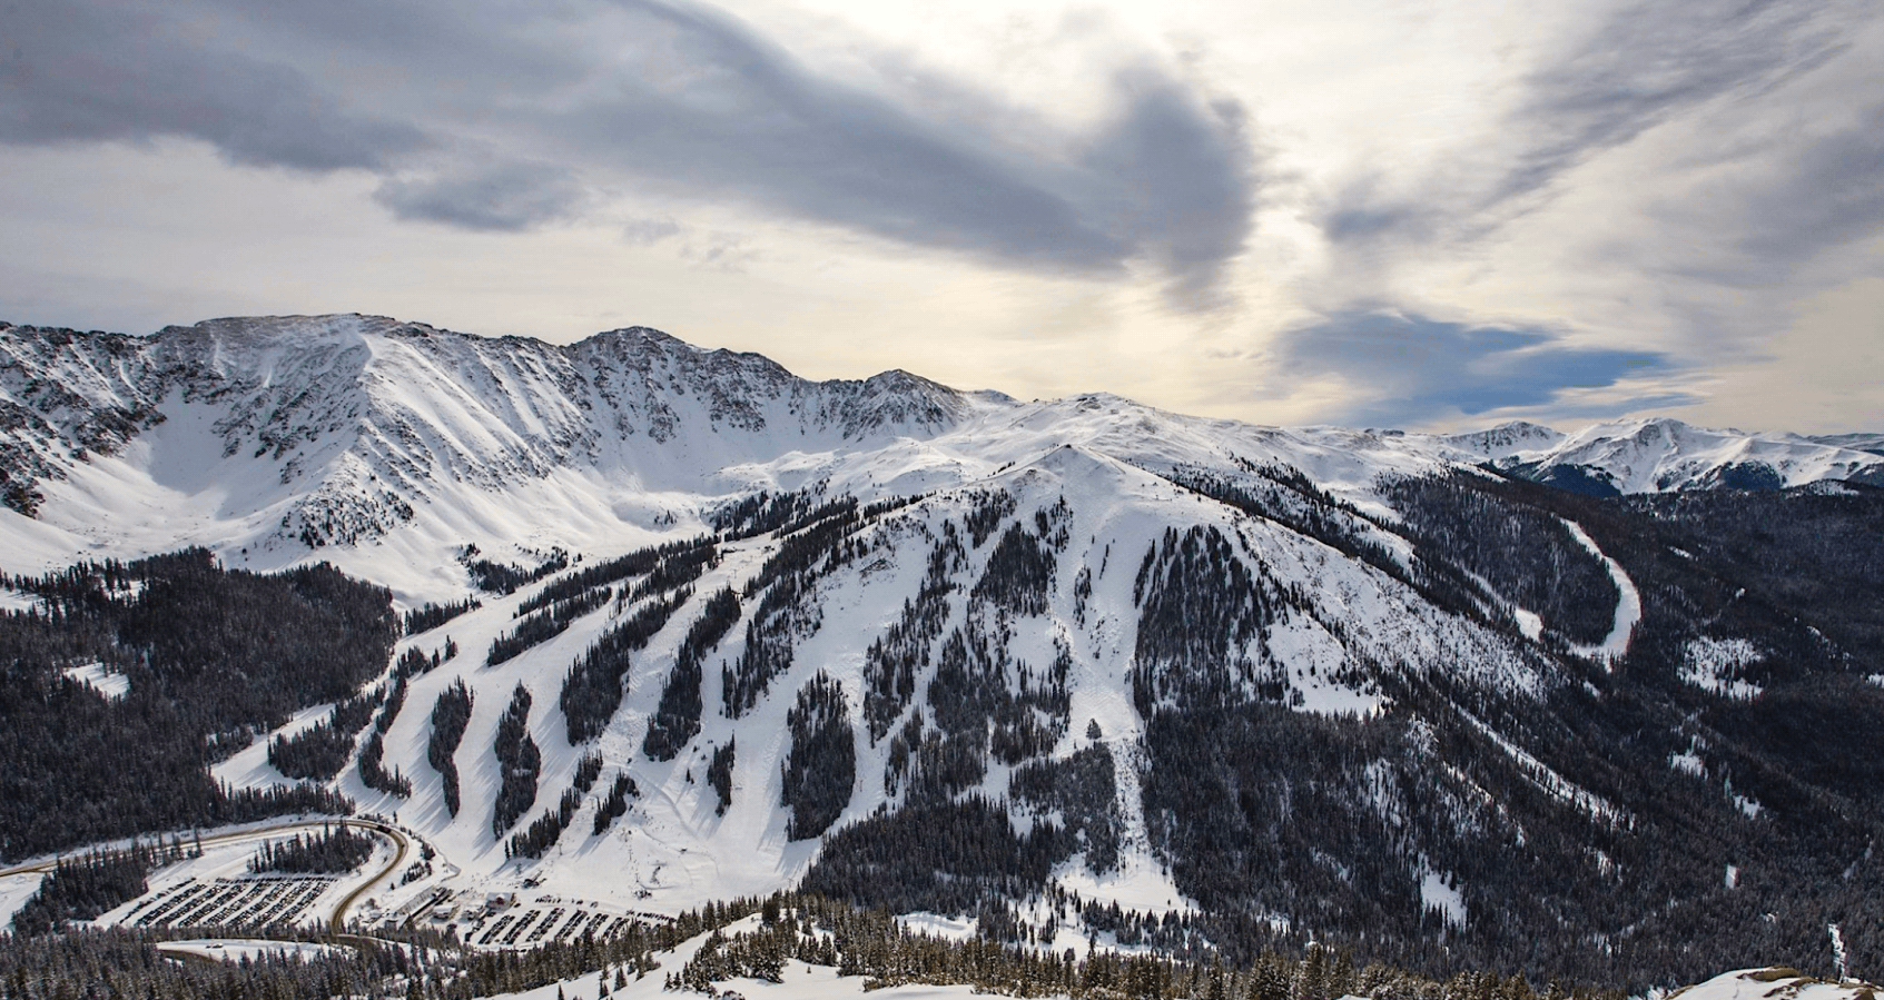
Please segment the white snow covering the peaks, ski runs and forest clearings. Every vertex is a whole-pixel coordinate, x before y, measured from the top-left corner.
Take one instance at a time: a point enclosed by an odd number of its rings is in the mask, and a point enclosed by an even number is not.
[[[60,379],[62,362],[30,356],[30,347],[23,337],[0,341],[0,354],[17,362],[17,371],[0,365],[4,379]],[[852,712],[859,712],[863,650],[895,621],[902,599],[916,593],[929,535],[942,518],[961,516],[968,505],[965,488],[1014,492],[1021,518],[1063,495],[1074,510],[1051,606],[1014,623],[1012,650],[1034,669],[1051,661],[1055,642],[1072,650],[1070,729],[1053,753],[1083,748],[1087,721],[1098,723],[1119,782],[1123,836],[1115,870],[1095,876],[1076,857],[1053,879],[1087,900],[1127,910],[1189,911],[1194,904],[1151,849],[1142,815],[1144,723],[1129,684],[1136,648],[1132,574],[1168,527],[1215,525],[1240,544],[1249,567],[1309,595],[1311,614],[1291,612],[1277,621],[1266,637],[1272,661],[1259,663],[1287,680],[1296,710],[1364,718],[1385,708],[1385,697],[1366,682],[1334,680],[1345,678],[1356,659],[1407,672],[1449,670],[1462,684],[1509,693],[1547,689],[1552,667],[1511,637],[1441,612],[1368,565],[1196,497],[1162,475],[1179,467],[1234,469],[1234,460],[1285,463],[1338,499],[1390,522],[1394,514],[1377,493],[1383,475],[1445,469],[1483,475],[1475,465],[1486,460],[1586,463],[1609,471],[1632,492],[1696,486],[1730,461],[1769,461],[1788,482],[1839,478],[1880,461],[1827,443],[1705,431],[1665,420],[1607,424],[1575,435],[1513,424],[1481,435],[1434,437],[1262,427],[1172,414],[1102,394],[1021,403],[999,394],[955,394],[901,373],[867,382],[808,382],[757,356],[706,352],[644,330],[561,348],[373,316],[290,316],[171,330],[141,350],[149,356],[111,367],[115,375],[85,373],[75,384],[92,405],[153,405],[166,420],[138,431],[117,454],[92,454],[85,461],[70,458],[66,441],[26,441],[23,446],[55,461],[66,476],[41,482],[47,499],[38,520],[0,508],[6,571],[36,573],[73,559],[205,544],[226,563],[258,571],[326,559],[388,586],[396,605],[411,608],[469,595],[456,561],[467,542],[486,557],[512,563],[531,563],[533,552],[552,546],[599,559],[699,535],[708,512],[755,490],[825,482],[831,495],[853,493],[865,503],[927,493],[859,533],[878,548],[818,584],[821,623],[797,637],[791,670],[774,678],[740,719],[718,712],[716,667],[744,652],[744,621],[729,633],[705,663],[703,731],[671,763],[648,761],[641,742],[680,637],[699,614],[699,597],[633,657],[622,708],[590,746],[569,746],[556,702],[571,661],[618,621],[620,608],[593,612],[499,667],[482,665],[484,650],[514,625],[512,612],[537,588],[511,597],[482,595],[480,610],[401,640],[398,652],[430,653],[448,635],[462,650],[413,678],[405,710],[384,734],[386,765],[411,778],[414,793],[398,798],[365,789],[352,766],[341,772],[335,789],[356,798],[362,812],[392,815],[416,831],[448,864],[441,861],[431,879],[382,889],[375,900],[384,911],[447,889],[454,898],[479,900],[484,893],[518,891],[520,906],[556,898],[609,911],[676,913],[708,898],[763,895],[795,883],[816,859],[818,844],[786,838],[778,808],[784,716],[818,670],[829,672],[844,687]],[[192,369],[192,375],[156,375]],[[0,397],[13,399],[9,386],[0,384]],[[256,433],[264,414],[269,441],[279,446],[264,446]],[[401,505],[409,505],[409,516]],[[322,512],[364,527],[358,537],[309,550],[292,525]],[[1603,559],[1620,595],[1605,640],[1581,652],[1616,661],[1641,618],[1641,597],[1583,527],[1564,524]],[[1404,561],[1411,557],[1402,537],[1375,524],[1355,520],[1353,529]],[[695,593],[742,586],[772,546],[776,540],[763,537],[723,546],[720,567],[695,584]],[[970,552],[957,586],[972,586],[991,548]],[[1093,574],[1085,614],[1070,597],[1080,569]],[[963,620],[961,595],[951,601],[948,627]],[[30,603],[28,595],[0,591],[0,608]],[[1543,635],[1535,612],[1513,608],[1513,618],[1532,640]],[[1324,621],[1340,621],[1341,635]],[[1690,648],[1690,682],[1714,684],[1731,697],[1758,693],[1730,676],[1750,663],[1733,661],[1739,648],[1731,642],[1743,640],[1720,642],[1728,646]],[[1262,650],[1251,642],[1225,655],[1255,661]],[[102,689],[122,682],[102,672],[85,678]],[[456,753],[463,806],[454,817],[443,806],[439,774],[426,763],[426,738],[433,702],[458,680],[477,697]],[[1884,684],[1884,676],[1871,680]],[[927,682],[927,674],[918,676],[918,689]],[[533,697],[529,733],[543,751],[537,802],[522,823],[554,806],[584,753],[597,751],[607,761],[563,840],[541,861],[507,859],[503,840],[490,832],[499,783],[490,746],[516,685]],[[328,710],[303,710],[275,734],[313,725]],[[1541,787],[1618,821],[1615,806],[1485,731]],[[710,748],[735,734],[733,802],[725,815],[716,815],[705,763]],[[236,787],[283,783],[286,778],[268,765],[266,748],[268,736],[260,736],[219,763],[215,776]],[[882,782],[885,759],[887,740],[869,746],[859,733],[857,785],[838,825],[893,804]],[[1701,772],[1697,753],[1669,763]],[[635,778],[641,798],[605,836],[590,836],[597,798],[618,768]],[[980,791],[999,798],[1006,782],[1008,768],[995,765]],[[1752,808],[1756,814],[1758,806]],[[239,868],[249,851],[252,844],[213,847],[162,879],[173,885],[217,878]],[[1422,898],[1449,919],[1456,902],[1464,921],[1464,896],[1451,878],[1426,872]],[[806,979],[821,983],[820,976]]]

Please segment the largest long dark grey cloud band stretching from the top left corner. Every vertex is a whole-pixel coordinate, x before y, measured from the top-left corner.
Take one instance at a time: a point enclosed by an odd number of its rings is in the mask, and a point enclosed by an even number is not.
[[[360,168],[399,218],[516,230],[633,190],[1048,271],[1149,260],[1206,303],[1255,202],[1242,111],[1149,60],[1098,70],[1115,113],[1076,134],[895,53],[861,55],[933,92],[842,83],[691,4],[26,8],[0,141],[179,136],[239,164]]]

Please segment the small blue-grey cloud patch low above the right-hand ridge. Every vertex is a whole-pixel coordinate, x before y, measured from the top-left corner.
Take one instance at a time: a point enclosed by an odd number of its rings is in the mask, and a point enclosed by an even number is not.
[[[1396,313],[1338,313],[1283,333],[1275,350],[1287,375],[1366,386],[1341,420],[1387,426],[1537,407],[1564,390],[1605,388],[1669,365],[1647,350],[1569,347],[1549,330]]]

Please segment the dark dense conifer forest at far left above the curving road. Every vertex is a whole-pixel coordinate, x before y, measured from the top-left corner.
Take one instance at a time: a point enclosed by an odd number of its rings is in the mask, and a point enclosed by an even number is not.
[[[382,588],[328,565],[226,571],[207,550],[6,586],[40,603],[0,614],[0,859],[350,808],[313,785],[230,791],[209,765],[300,708],[349,702],[386,670],[399,620]],[[70,672],[85,665],[128,691],[104,695]]]

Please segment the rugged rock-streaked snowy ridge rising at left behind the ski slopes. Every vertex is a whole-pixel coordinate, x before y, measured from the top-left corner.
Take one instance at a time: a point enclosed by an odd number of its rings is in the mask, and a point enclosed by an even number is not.
[[[448,484],[501,492],[577,469],[697,490],[725,467],[933,437],[970,412],[902,371],[810,382],[646,328],[554,347],[386,316],[252,316],[141,339],[8,328],[0,350],[0,486],[15,510],[36,512],[45,486],[90,456],[190,414],[153,448],[205,456],[192,465],[243,460],[217,478],[286,493],[219,510],[271,525],[258,542],[317,548],[381,537]]]

